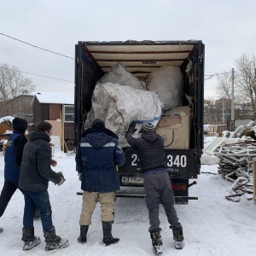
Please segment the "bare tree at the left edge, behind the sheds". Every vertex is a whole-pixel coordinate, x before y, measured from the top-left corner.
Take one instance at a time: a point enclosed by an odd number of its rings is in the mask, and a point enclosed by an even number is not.
[[[8,102],[9,100],[27,94],[35,90],[32,79],[26,79],[20,70],[8,64],[0,65],[0,102]]]

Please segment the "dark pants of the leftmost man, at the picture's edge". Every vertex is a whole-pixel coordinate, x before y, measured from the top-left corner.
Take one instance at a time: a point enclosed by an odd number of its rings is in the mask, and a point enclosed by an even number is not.
[[[3,189],[0,195],[0,217],[2,217],[3,212],[8,206],[12,196],[15,194],[16,189],[19,189],[19,182],[4,181]],[[20,191],[23,193],[21,189]]]

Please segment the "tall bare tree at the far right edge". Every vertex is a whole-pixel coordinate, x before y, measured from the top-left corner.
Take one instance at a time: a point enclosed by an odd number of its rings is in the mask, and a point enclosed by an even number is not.
[[[242,54],[236,59],[236,91],[239,93],[242,102],[250,103],[256,118],[256,55]]]

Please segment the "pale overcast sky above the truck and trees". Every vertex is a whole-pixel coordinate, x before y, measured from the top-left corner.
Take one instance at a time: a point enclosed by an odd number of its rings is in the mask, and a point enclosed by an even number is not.
[[[78,41],[202,40],[205,74],[229,72],[256,51],[255,0],[1,1],[0,33],[74,57]],[[0,63],[73,82],[72,59],[0,35]],[[73,83],[24,73],[37,91],[73,95]],[[207,79],[207,77],[206,77]],[[216,76],[205,81],[215,98]]]

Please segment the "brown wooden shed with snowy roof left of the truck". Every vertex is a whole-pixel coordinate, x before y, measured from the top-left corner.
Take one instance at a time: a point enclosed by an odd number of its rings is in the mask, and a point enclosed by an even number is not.
[[[32,109],[34,129],[42,120],[60,120],[62,130],[61,149],[67,150],[68,148],[68,150],[72,150],[74,137],[74,97],[55,93],[37,93],[32,100]]]

